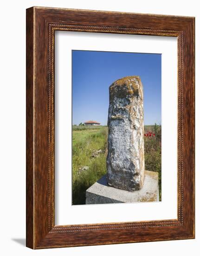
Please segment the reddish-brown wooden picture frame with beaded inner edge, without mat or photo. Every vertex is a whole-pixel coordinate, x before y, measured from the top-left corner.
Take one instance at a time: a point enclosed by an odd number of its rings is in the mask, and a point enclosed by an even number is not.
[[[55,225],[54,34],[178,40],[177,219]],[[194,17],[31,7],[26,10],[26,246],[32,249],[194,238]]]

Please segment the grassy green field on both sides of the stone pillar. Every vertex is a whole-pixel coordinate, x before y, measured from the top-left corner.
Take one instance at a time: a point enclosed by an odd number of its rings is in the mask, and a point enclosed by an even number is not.
[[[145,169],[159,173],[161,200],[161,126],[145,126]],[[85,191],[106,174],[106,126],[72,128],[72,204],[85,204]]]

